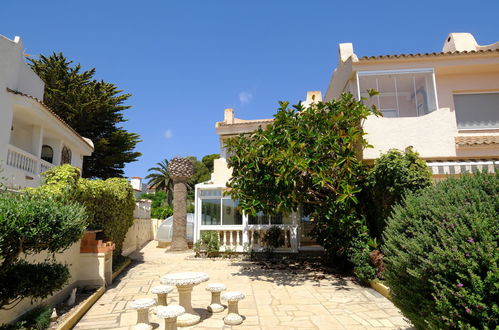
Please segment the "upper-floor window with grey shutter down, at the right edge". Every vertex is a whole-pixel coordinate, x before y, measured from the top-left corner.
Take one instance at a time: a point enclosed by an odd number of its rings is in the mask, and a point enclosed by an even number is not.
[[[457,128],[499,128],[499,93],[455,94]]]

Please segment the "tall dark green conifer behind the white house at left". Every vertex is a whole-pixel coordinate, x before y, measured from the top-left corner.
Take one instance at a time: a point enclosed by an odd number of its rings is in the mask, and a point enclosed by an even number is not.
[[[131,96],[112,83],[95,80],[95,69],[83,71],[62,54],[30,59],[31,68],[45,82],[43,101],[80,135],[90,138],[95,150],[83,159],[83,177],[123,176],[126,163],[141,155],[134,151],[139,135],[118,125],[125,122],[124,102]]]

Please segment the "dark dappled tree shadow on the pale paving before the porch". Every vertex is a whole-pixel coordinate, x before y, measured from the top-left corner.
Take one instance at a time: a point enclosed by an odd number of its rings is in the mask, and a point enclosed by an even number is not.
[[[320,258],[270,258],[254,261],[236,261],[239,266],[233,276],[247,276],[253,281],[265,281],[282,286],[300,286],[305,281],[314,286],[335,286],[337,290],[352,290],[347,280],[353,281],[346,274],[325,267]]]

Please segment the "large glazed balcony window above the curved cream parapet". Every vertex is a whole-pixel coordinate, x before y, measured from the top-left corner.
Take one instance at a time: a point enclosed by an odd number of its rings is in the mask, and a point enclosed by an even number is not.
[[[384,117],[423,116],[437,109],[433,77],[433,69],[358,72],[359,98]],[[368,89],[379,95],[370,98]]]

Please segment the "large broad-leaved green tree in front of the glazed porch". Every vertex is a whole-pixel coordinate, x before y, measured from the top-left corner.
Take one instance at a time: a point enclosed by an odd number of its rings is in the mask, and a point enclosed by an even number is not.
[[[280,105],[265,129],[226,143],[233,155],[231,196],[251,214],[303,206],[327,255],[345,260],[353,238],[365,230],[358,212],[365,174],[360,156],[368,146],[362,122],[378,112],[351,94],[308,108]]]

